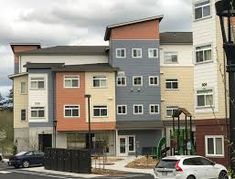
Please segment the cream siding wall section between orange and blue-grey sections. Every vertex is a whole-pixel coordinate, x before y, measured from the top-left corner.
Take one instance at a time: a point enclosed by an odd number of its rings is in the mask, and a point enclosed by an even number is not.
[[[94,88],[93,87],[93,76],[103,75],[107,78],[107,87],[104,88]],[[93,112],[92,106],[94,105],[107,105],[108,107],[108,117],[101,117],[97,118],[94,116],[91,116],[91,122],[105,122],[109,123],[111,122],[112,125],[115,126],[116,121],[116,110],[115,110],[115,73],[88,73],[85,74],[85,94],[91,95],[91,114]],[[86,106],[87,100],[86,100]],[[88,109],[86,107],[86,119],[88,120]],[[106,125],[106,124],[103,124]],[[115,129],[115,128],[113,128]]]

